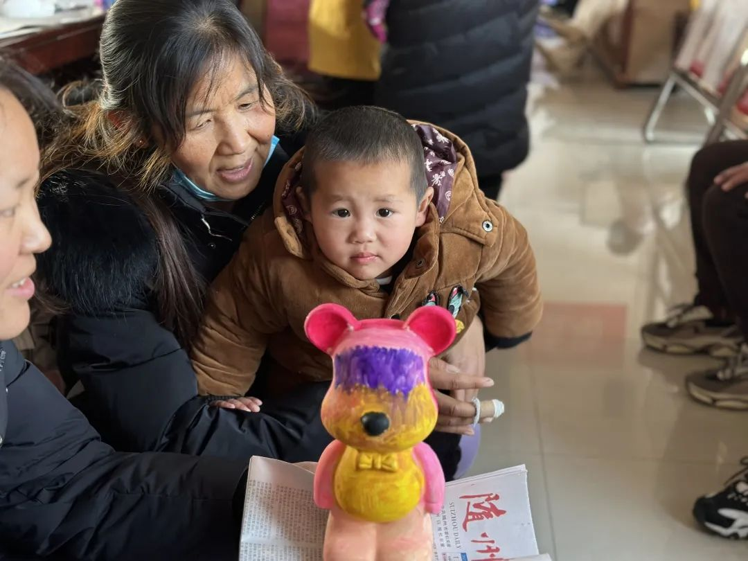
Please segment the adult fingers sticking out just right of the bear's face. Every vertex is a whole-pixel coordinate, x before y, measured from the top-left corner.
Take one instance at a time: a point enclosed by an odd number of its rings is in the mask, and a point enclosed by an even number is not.
[[[451,392],[458,390],[477,391],[494,385],[491,378],[461,373],[457,367],[439,358],[432,358],[429,361],[429,378],[435,389]],[[446,393],[435,393],[439,407],[436,429],[441,432],[454,432],[458,435],[472,435],[475,405],[471,402],[455,399]]]

